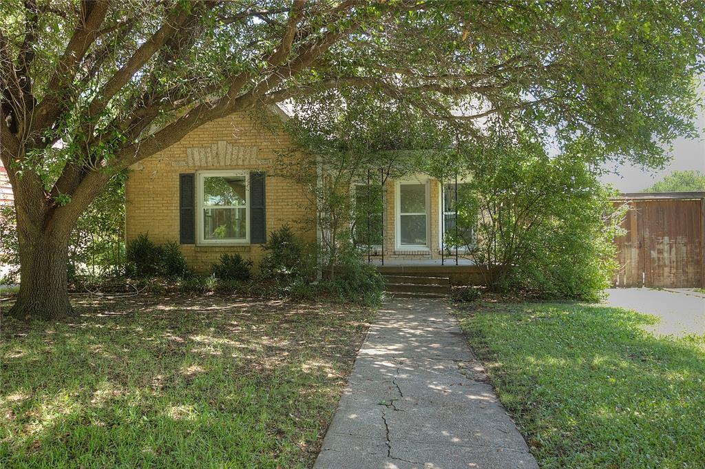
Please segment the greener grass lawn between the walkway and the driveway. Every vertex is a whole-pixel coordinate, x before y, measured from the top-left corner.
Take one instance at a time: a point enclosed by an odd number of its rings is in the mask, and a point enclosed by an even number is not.
[[[705,467],[705,337],[599,305],[456,308],[542,468]]]

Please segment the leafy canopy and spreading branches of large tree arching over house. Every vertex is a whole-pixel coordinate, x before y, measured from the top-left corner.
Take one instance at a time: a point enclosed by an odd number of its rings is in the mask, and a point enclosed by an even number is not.
[[[465,138],[503,121],[585,159],[659,166],[663,142],[694,132],[704,13],[700,0],[5,0],[0,158],[22,262],[61,264],[31,246],[66,250],[114,174],[190,130],[343,89]],[[45,270],[23,269],[18,309],[43,296],[32,284],[63,283],[25,281]]]

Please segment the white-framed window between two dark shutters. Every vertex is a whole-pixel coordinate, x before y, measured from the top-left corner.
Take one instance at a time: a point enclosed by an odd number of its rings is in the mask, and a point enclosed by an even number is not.
[[[247,171],[200,171],[197,177],[197,232],[200,244],[250,242]]]

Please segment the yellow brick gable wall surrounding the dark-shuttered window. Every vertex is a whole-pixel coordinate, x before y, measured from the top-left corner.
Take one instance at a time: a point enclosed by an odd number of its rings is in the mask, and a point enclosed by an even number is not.
[[[306,241],[315,240],[315,228],[307,223],[314,209],[305,188],[271,176],[277,152],[290,147],[288,135],[264,125],[249,114],[233,114],[197,128],[176,144],[133,166],[125,187],[127,239],[148,233],[155,243],[179,239],[180,173],[207,169],[264,171],[266,177],[266,229],[289,224]],[[197,229],[199,229],[197,227]],[[245,258],[262,259],[261,245],[182,245],[183,253],[197,272],[207,272],[222,252],[240,252]]]

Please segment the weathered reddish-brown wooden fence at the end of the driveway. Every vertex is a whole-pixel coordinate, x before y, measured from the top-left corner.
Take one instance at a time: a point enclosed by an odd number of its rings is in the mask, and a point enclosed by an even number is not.
[[[631,193],[616,286],[705,288],[705,193]]]

